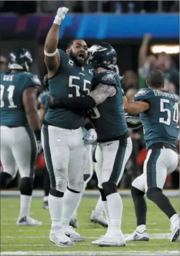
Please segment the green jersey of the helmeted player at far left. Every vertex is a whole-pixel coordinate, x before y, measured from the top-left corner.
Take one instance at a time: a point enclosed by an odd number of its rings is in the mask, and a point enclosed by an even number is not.
[[[32,73],[1,73],[1,126],[28,126],[23,92],[28,87],[39,86],[41,82]]]

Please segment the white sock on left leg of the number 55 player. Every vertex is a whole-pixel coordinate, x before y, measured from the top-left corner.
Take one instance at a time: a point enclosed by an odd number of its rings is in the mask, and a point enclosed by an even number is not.
[[[51,215],[52,229],[61,226],[61,216],[63,211],[63,197],[48,196],[48,206]]]

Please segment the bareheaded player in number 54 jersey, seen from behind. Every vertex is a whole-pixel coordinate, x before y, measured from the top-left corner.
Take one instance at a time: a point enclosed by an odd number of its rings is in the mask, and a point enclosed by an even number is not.
[[[179,237],[179,216],[168,198],[163,194],[166,176],[178,165],[176,139],[179,134],[179,97],[163,90],[164,75],[161,70],[152,70],[146,80],[146,89],[135,94],[134,102],[125,102],[128,113],[139,114],[144,125],[147,157],[143,174],[132,183],[137,227],[128,241],[148,241],[146,231],[146,201],[144,195],[154,202],[171,222],[171,242]]]

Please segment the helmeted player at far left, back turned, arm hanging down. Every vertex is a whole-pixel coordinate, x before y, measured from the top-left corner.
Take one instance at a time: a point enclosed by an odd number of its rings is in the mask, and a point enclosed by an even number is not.
[[[41,151],[41,121],[36,102],[41,82],[28,72],[32,61],[29,51],[22,48],[10,54],[8,74],[1,73],[1,189],[15,178],[18,168],[21,176],[19,226],[42,225],[29,216],[37,146]]]

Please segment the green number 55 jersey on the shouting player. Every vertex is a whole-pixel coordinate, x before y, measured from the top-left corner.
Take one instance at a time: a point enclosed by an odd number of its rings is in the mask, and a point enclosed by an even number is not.
[[[53,78],[48,79],[49,93],[55,96],[86,96],[92,90],[94,69],[91,65],[80,66],[67,53],[59,50],[61,64]],[[85,111],[71,109],[47,109],[45,123],[64,129],[77,129],[83,125]]]

